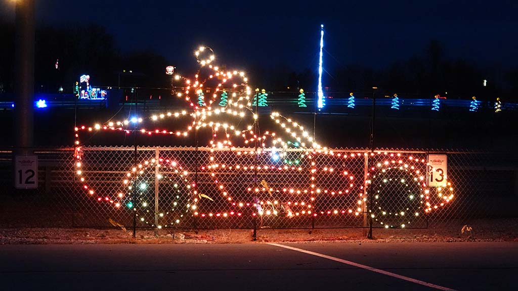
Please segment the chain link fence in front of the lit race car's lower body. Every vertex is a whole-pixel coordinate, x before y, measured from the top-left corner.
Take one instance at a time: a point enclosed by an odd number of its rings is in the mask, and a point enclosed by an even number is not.
[[[426,185],[431,153],[448,157],[440,187]],[[131,147],[83,147],[79,158],[73,148],[35,154],[37,190],[16,191],[12,152],[0,152],[5,227],[426,228],[517,215],[518,157],[509,154]]]

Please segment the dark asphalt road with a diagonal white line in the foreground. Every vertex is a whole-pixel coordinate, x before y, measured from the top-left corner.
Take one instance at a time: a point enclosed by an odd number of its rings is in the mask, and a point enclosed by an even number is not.
[[[518,290],[513,242],[282,245],[2,245],[0,290]]]

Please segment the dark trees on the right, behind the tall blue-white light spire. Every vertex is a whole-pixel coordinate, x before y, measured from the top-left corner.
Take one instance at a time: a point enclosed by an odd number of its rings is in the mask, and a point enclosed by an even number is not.
[[[292,72],[284,77],[284,86],[276,86],[276,89],[314,88],[317,78],[315,70]],[[449,98],[518,99],[518,68],[502,71],[498,67],[479,67],[469,60],[448,59],[438,41],[430,41],[422,56],[414,55],[383,69],[349,64],[324,74],[323,78],[323,85],[334,92],[370,93],[376,86],[385,94],[398,93],[405,98],[440,94]],[[486,86],[483,80],[487,80]]]

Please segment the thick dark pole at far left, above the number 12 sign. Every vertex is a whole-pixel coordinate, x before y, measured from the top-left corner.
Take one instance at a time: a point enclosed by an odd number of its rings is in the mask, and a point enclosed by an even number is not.
[[[34,0],[16,2],[15,154],[34,146]]]

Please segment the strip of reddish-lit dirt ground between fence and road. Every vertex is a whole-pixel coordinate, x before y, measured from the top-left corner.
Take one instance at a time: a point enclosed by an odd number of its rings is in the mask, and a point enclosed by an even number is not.
[[[92,228],[0,228],[0,244],[97,244],[97,243],[257,243],[257,242],[454,242],[518,241],[518,219],[477,220],[463,232],[463,224],[449,222],[427,229],[258,229],[256,240],[250,229],[180,230]]]

